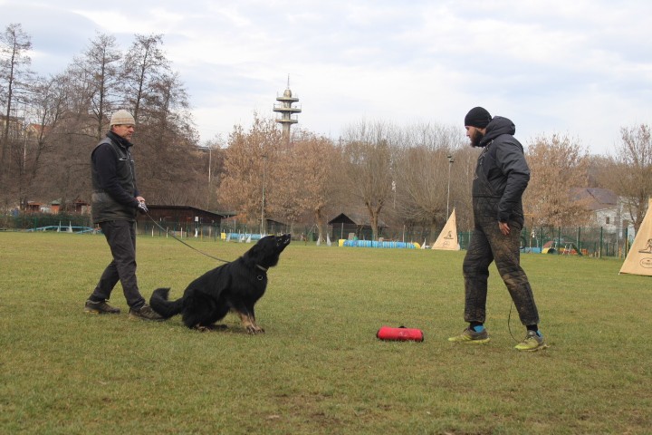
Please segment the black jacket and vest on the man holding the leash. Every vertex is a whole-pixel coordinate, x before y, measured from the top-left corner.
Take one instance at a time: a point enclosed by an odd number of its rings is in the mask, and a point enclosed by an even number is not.
[[[107,133],[91,153],[92,219],[136,219],[139,196],[136,168],[129,148],[132,144],[113,132]]]

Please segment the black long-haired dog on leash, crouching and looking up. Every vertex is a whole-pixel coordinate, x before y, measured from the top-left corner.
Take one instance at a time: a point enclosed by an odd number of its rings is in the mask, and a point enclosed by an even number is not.
[[[206,331],[229,311],[240,316],[248,333],[264,333],[255,322],[254,304],[267,287],[267,269],[276,266],[290,235],[266,236],[243,256],[199,276],[187,286],[183,297],[168,301],[169,288],[158,288],[149,305],[168,319],[181,314],[188,328]]]

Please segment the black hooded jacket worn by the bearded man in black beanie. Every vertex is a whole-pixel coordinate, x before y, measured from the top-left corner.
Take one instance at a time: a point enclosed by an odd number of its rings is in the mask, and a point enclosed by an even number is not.
[[[523,145],[513,137],[515,132],[513,122],[501,116],[495,116],[487,125],[478,145],[484,150],[475,169],[473,197],[474,208],[483,204],[484,214],[495,213],[500,222],[513,219],[523,225],[522,198],[530,181],[530,168],[523,155]],[[494,200],[477,201],[476,198]]]

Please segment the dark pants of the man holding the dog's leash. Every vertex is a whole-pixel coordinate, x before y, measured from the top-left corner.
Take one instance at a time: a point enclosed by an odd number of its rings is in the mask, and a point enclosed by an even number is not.
[[[136,281],[136,231],[134,223],[126,220],[101,222],[102,233],[109,243],[113,261],[104,269],[100,282],[91,295],[93,300],[109,299],[113,287],[122,285],[129,307],[138,309],[145,304]]]

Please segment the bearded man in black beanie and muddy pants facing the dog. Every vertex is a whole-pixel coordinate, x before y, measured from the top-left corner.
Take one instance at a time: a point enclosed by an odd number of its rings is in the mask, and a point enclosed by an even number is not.
[[[520,266],[523,228],[523,191],[530,180],[523,146],[513,137],[516,128],[507,118],[475,107],[465,116],[466,137],[472,147],[482,148],[473,181],[474,231],[463,265],[465,278],[465,322],[469,326],[448,341],[487,343],[486,316],[489,265],[498,273],[526,327],[520,351],[548,347],[539,331],[539,312],[527,275]]]

